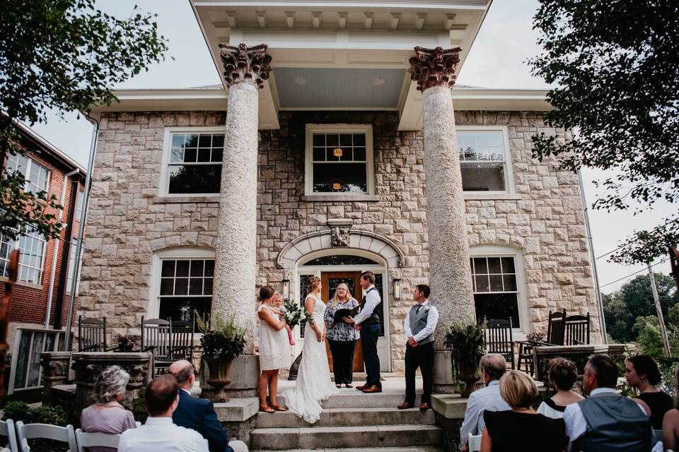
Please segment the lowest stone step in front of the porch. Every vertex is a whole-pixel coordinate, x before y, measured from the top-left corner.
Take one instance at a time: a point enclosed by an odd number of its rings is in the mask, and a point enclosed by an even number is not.
[[[257,450],[319,448],[383,448],[439,446],[441,429],[435,425],[368,425],[362,427],[302,427],[254,429],[250,447]]]

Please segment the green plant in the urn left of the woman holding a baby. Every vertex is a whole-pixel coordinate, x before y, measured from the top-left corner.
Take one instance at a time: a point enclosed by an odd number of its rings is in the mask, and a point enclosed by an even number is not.
[[[245,329],[236,325],[236,318],[229,316],[226,320],[219,315],[211,316],[210,324],[204,322],[200,316],[198,329],[203,333],[200,344],[203,356],[233,361],[245,350]]]

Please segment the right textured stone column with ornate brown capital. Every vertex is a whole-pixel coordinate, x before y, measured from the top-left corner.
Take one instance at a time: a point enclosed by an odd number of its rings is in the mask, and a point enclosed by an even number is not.
[[[451,88],[460,48],[415,47],[410,73],[422,91],[426,225],[429,285],[439,310],[434,347],[434,391],[450,392],[450,353],[443,348],[446,327],[475,322],[467,223]]]

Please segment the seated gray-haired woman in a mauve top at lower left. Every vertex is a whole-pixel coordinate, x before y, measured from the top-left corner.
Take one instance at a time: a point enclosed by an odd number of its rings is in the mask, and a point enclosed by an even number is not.
[[[83,432],[120,434],[134,429],[134,415],[120,405],[125,396],[129,374],[118,366],[110,366],[97,377],[94,397],[97,402],[85,408],[80,415]],[[115,448],[91,447],[91,452],[114,452]]]

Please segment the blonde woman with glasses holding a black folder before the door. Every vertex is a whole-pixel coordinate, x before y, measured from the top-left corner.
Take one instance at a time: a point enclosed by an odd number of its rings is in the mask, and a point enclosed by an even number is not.
[[[337,286],[335,295],[328,301],[325,310],[325,324],[327,325],[327,342],[330,344],[332,354],[332,370],[335,373],[335,386],[341,388],[344,384],[352,388],[354,381],[354,350],[359,332],[354,329],[353,323],[347,323],[343,319],[344,310],[352,311],[359,306],[359,302],[352,297],[349,286],[342,283]]]

